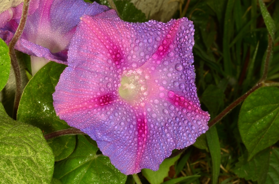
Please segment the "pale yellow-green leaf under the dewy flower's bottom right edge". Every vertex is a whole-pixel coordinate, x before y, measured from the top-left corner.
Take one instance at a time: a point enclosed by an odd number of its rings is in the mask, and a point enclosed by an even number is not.
[[[142,169],[142,174],[151,184],[160,184],[163,183],[164,178],[169,174],[169,167],[174,165],[174,163],[179,159],[181,154],[171,158],[165,159],[159,167],[158,171],[152,171],[150,169]]]

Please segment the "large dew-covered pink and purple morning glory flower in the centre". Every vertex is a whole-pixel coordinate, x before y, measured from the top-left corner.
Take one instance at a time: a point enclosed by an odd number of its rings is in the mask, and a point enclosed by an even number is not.
[[[129,23],[114,10],[78,24],[53,105],[124,174],[158,170],[208,130],[194,73],[194,25]]]

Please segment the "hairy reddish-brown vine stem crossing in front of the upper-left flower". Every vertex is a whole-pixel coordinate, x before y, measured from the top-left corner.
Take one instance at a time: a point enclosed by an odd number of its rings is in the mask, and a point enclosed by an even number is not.
[[[16,92],[15,92],[15,103],[14,103],[14,109],[13,109],[13,118],[16,120],[17,119],[17,109],[19,106],[19,101],[21,97],[21,91],[22,91],[22,80],[21,80],[21,75],[20,75],[20,68],[17,62],[17,56],[15,55],[15,44],[19,40],[23,29],[25,27],[25,23],[27,20],[27,15],[28,15],[28,8],[29,8],[29,1],[30,0],[24,0],[23,3],[23,9],[22,9],[22,17],[20,19],[18,28],[15,32],[15,35],[12,37],[12,40],[10,41],[8,48],[9,48],[9,55],[11,58],[11,63],[12,63],[12,68],[15,72],[15,82],[16,82]]]

